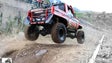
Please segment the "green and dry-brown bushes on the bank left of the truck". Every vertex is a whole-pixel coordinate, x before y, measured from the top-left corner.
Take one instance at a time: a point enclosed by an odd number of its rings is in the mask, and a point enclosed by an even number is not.
[[[10,35],[16,34],[24,29],[24,18],[21,15],[12,18],[9,16],[5,24],[2,23],[2,16],[0,16],[0,34]]]

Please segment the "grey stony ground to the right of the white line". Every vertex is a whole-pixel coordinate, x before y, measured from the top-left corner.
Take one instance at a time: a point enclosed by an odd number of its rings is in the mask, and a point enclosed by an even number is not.
[[[99,51],[96,63],[111,63],[112,62],[112,35],[107,34],[103,45]]]

